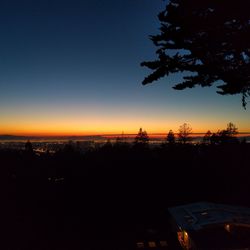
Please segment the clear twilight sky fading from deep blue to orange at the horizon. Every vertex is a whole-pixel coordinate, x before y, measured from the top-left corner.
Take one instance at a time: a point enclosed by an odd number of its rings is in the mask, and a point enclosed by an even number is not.
[[[89,135],[250,131],[250,107],[216,88],[143,86],[162,0],[2,0],[0,134]]]

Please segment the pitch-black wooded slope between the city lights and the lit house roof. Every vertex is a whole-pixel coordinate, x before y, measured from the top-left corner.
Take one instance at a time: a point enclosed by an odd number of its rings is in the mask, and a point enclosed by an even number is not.
[[[39,156],[29,143],[1,150],[5,249],[91,249],[86,242],[129,242],[142,228],[166,226],[169,206],[250,206],[249,162],[247,143],[117,141],[84,154],[68,144]]]

